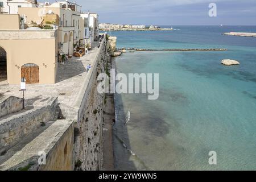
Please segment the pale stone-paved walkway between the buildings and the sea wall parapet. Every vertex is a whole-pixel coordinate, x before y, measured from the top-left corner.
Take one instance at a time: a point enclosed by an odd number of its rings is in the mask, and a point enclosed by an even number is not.
[[[95,45],[98,42],[94,42]],[[101,45],[102,46],[102,45]],[[93,46],[88,54],[83,57],[72,57],[64,65],[58,64],[56,84],[53,85],[26,85],[24,93],[25,105],[35,105],[48,97],[58,97],[58,102],[67,106],[75,105],[77,95],[84,84],[87,72],[86,65],[93,64],[99,49]],[[19,85],[6,85],[0,82],[0,95],[16,96],[22,98]]]

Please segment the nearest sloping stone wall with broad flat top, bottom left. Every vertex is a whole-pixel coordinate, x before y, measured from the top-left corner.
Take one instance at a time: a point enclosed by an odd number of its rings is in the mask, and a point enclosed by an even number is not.
[[[9,160],[0,166],[0,170],[11,171],[71,171],[73,151],[73,122],[57,120],[27,143]],[[44,152],[46,164],[39,164],[39,152]],[[44,157],[43,156],[43,157]],[[43,160],[42,160],[43,162]]]

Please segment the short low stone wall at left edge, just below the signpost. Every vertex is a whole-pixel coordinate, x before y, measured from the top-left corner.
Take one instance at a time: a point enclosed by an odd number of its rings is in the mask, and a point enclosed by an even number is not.
[[[0,98],[0,117],[19,110],[22,110],[22,98],[14,96]]]

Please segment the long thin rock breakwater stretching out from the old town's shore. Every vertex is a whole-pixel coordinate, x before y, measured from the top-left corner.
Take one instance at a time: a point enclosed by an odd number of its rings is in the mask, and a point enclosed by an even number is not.
[[[130,51],[227,51],[225,48],[209,48],[209,49],[144,49],[144,48],[117,48],[117,50],[130,50]]]

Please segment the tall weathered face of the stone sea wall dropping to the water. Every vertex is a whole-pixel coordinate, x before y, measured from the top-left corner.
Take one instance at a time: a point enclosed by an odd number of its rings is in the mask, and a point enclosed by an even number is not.
[[[75,170],[102,169],[102,124],[104,122],[105,94],[100,94],[97,91],[100,82],[97,80],[97,76],[105,72],[108,57],[105,42],[97,56],[96,63],[92,67],[92,75],[84,93],[85,100],[80,106],[79,119],[75,126]]]

